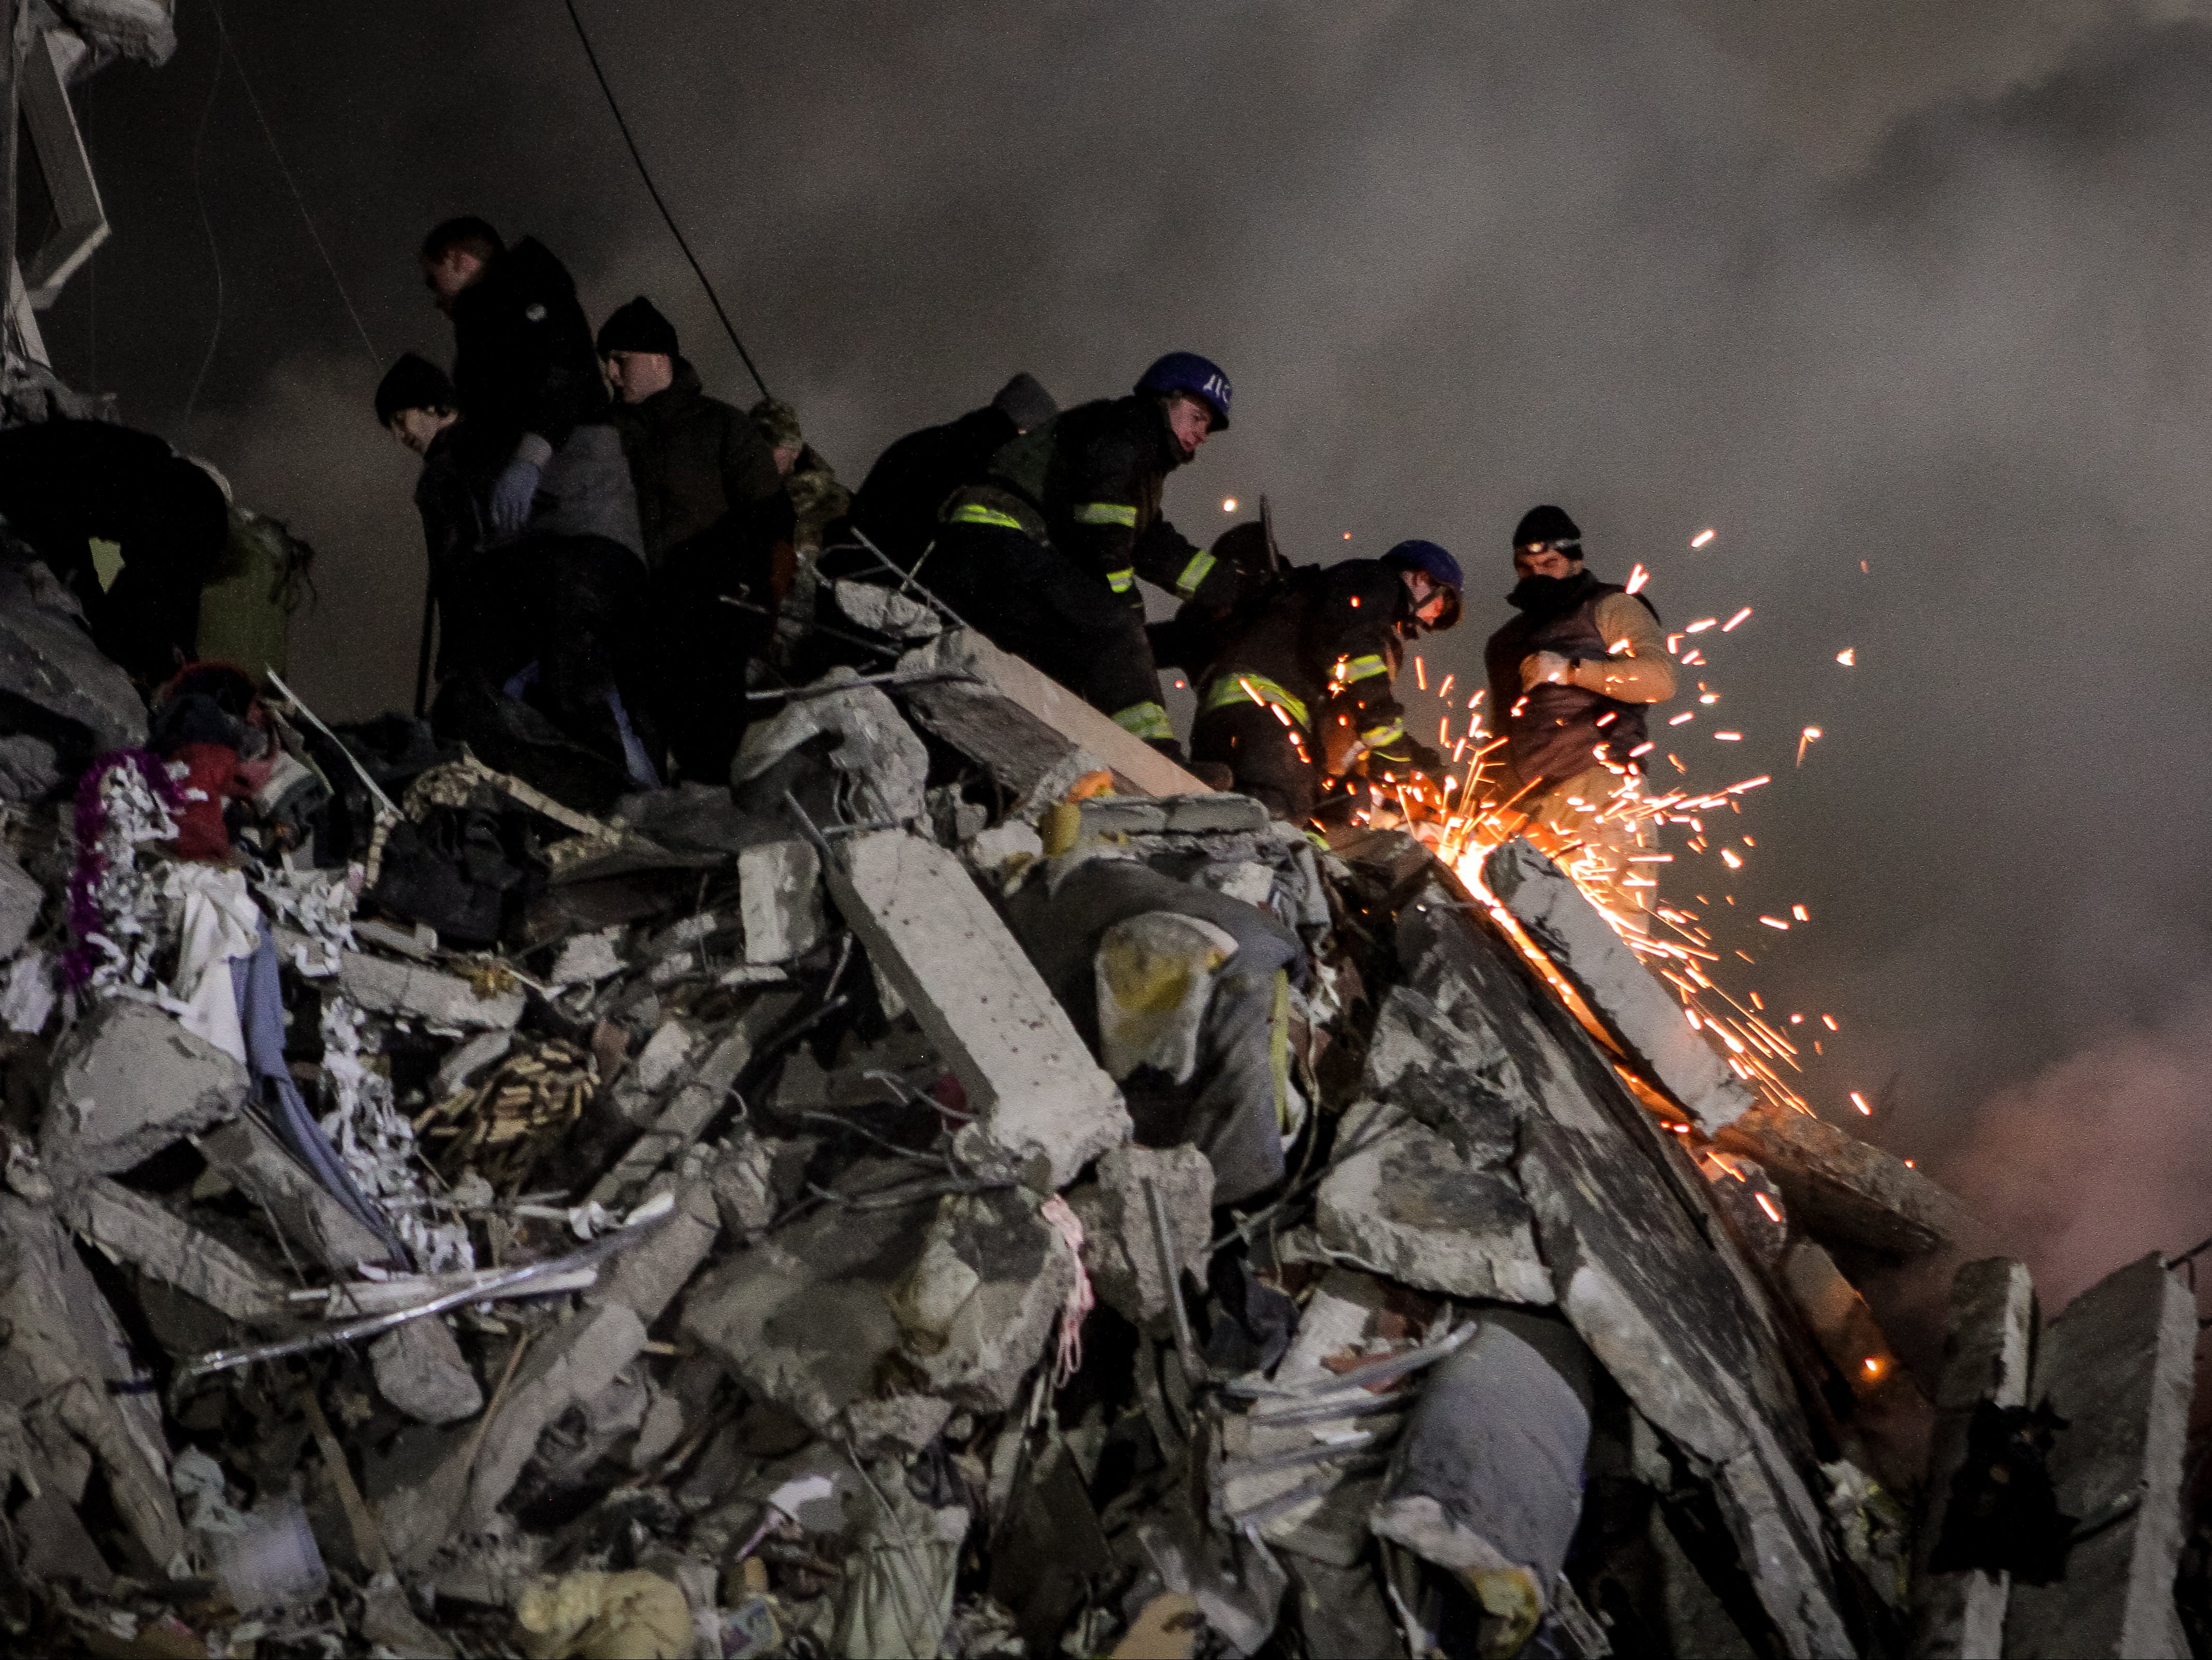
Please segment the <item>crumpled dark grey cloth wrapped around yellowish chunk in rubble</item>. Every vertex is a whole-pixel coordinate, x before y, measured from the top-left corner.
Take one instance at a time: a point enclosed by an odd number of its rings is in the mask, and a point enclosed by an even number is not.
[[[1192,930],[1183,934],[1192,954],[1181,981],[1172,967],[1148,972],[1148,950],[1177,932],[1155,916],[1194,919],[1228,936],[1234,952],[1208,961],[1219,945]],[[1135,919],[1148,921],[1115,932]],[[1303,1111],[1287,1069],[1287,976],[1305,958],[1283,923],[1241,899],[1110,857],[1055,861],[1006,901],[1006,923],[1102,1058],[1102,1016],[1117,1005],[1106,1069],[1128,1062],[1119,1082],[1139,1144],[1194,1144],[1214,1166],[1214,1204],[1237,1204],[1283,1180],[1283,1138]],[[1102,965],[1108,934],[1115,945]],[[1117,978],[1130,989],[1128,1005],[1113,996]],[[1175,1014],[1130,1007],[1148,1000],[1137,989],[1148,978],[1157,996],[1179,983]],[[1190,1040],[1188,1065],[1181,1034]],[[1155,1042],[1155,1054],[1144,1054]],[[1159,1058],[1170,1065],[1159,1067]]]

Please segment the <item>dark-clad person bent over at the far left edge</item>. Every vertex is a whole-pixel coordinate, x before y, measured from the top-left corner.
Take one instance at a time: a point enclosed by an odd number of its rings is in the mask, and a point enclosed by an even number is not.
[[[13,427],[0,432],[0,518],[142,691],[199,655],[199,591],[230,540],[210,467],[106,421]]]

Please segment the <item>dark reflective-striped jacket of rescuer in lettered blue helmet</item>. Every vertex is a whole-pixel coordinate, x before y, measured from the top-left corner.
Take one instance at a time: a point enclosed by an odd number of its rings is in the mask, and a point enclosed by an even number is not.
[[[1102,398],[1024,432],[989,476],[1044,516],[1055,549],[1141,604],[1139,575],[1186,600],[1206,575],[1206,556],[1159,513],[1183,460],[1157,398]]]

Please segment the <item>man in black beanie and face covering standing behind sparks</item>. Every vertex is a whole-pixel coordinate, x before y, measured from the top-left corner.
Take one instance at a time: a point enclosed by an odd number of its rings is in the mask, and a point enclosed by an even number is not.
[[[1500,828],[1571,863],[1584,885],[1632,914],[1624,888],[1630,821],[1652,744],[1644,710],[1674,695],[1674,660],[1641,593],[1582,569],[1582,531],[1562,509],[1531,507],[1513,529],[1520,613],[1484,649],[1491,722],[1506,739],[1482,799]]]

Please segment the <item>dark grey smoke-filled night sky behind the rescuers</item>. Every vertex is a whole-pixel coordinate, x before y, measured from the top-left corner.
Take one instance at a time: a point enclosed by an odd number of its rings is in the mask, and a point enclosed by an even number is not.
[[[1668,883],[1809,907],[1730,945],[1759,958],[1734,985],[1843,1020],[1816,1104],[1878,1096],[1874,1133],[2066,1288],[2212,1233],[2190,7],[582,4],[847,478],[1015,367],[1075,401],[1192,347],[1239,403],[1177,520],[1206,540],[1267,491],[1301,560],[1453,547],[1471,626],[1431,684],[1475,682],[1537,500],[1599,573],[1648,564],[1670,622],[1754,606],[1661,748],[1774,775],[1725,823],[1756,845]],[[445,356],[411,248],[473,210],[544,237],[593,317],[648,292],[750,396],[555,0],[226,18],[378,359]],[[84,89],[115,239],[49,343],[316,542],[301,688],[396,706],[414,465],[212,11],[179,33]]]

